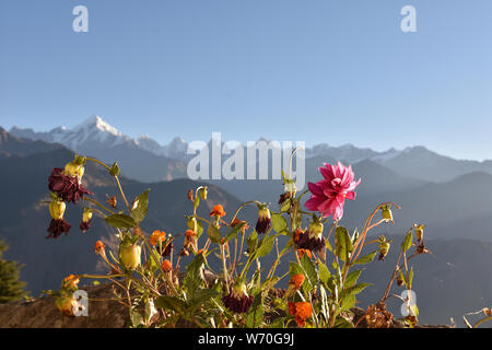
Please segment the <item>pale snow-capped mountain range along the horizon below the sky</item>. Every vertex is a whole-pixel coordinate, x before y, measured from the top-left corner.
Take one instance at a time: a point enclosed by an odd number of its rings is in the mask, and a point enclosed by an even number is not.
[[[97,115],[91,116],[73,128],[58,127],[39,132],[13,127],[10,133],[23,139],[60,143],[78,153],[96,155],[108,163],[118,160],[120,165],[124,165],[122,168],[126,168],[125,175],[141,182],[186,177],[186,165],[190,159],[190,155],[187,155],[189,144],[179,137],[165,145],[148,136],[132,139]],[[257,143],[261,141],[269,142],[268,139],[261,138]],[[307,148],[305,158],[307,161],[311,160],[311,163],[319,165],[326,161],[342,161],[350,164],[370,161],[398,175],[433,183],[452,180],[471,172],[492,174],[492,161],[455,160],[420,145],[377,152],[352,144],[332,147],[321,143]],[[309,177],[307,174],[306,178]]]

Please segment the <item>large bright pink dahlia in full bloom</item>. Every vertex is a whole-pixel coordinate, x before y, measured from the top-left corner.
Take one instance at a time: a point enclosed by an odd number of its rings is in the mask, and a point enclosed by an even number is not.
[[[333,220],[340,220],[345,199],[355,199],[354,189],[361,179],[354,182],[352,165],[345,167],[340,162],[337,165],[325,163],[319,172],[325,178],[316,184],[307,184],[313,196],[305,206],[311,211],[319,211],[325,218],[331,215]]]

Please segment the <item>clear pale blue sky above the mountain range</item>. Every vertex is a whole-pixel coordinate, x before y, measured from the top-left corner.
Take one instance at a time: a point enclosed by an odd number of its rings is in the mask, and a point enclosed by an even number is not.
[[[0,0],[0,126],[492,159],[491,38],[490,0]]]

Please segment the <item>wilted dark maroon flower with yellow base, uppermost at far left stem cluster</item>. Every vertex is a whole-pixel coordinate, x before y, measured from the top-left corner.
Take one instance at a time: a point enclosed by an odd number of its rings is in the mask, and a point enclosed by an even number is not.
[[[67,164],[66,171],[60,167],[51,171],[51,175],[48,177],[48,188],[60,196],[62,200],[77,203],[79,199],[83,199],[85,195],[92,195],[92,192],[81,185],[83,166],[69,164]]]

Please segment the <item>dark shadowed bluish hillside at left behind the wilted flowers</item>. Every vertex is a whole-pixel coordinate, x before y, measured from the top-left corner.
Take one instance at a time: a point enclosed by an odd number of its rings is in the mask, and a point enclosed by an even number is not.
[[[103,238],[116,249],[113,230],[99,219],[93,220],[87,233],[80,232],[82,205],[67,206],[66,218],[72,224],[68,237],[45,238],[50,218],[47,206],[40,205],[40,201],[48,199],[47,177],[52,167],[63,166],[72,158],[71,151],[60,149],[31,156],[0,159],[0,192],[3,198],[8,198],[0,201],[0,236],[11,247],[5,258],[25,265],[21,278],[28,282],[27,289],[35,295],[42,289],[57,289],[61,279],[69,273],[95,272],[98,259],[94,255],[94,244],[97,240]],[[86,167],[84,183],[99,195],[102,202],[106,200],[105,194],[118,195],[110,176],[93,164]],[[151,188],[148,220],[144,221],[143,229],[159,229],[174,234],[186,231],[183,215],[192,212],[187,192],[198,187],[198,183],[178,179],[142,184],[126,178],[121,183],[130,199]],[[119,208],[124,209],[121,198],[118,202]],[[209,199],[202,203],[200,214],[208,217],[213,205],[219,202],[224,206],[229,215],[239,206],[238,199],[210,186]],[[177,246],[179,247],[179,240]]]

